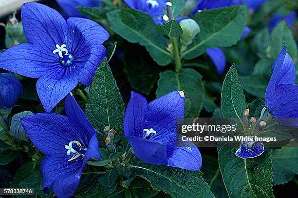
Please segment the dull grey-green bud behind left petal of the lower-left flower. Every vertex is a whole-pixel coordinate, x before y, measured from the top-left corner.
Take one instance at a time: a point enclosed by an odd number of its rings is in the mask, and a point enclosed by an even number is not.
[[[24,118],[26,116],[30,116],[30,115],[33,115],[33,113],[31,111],[24,111],[24,112],[14,115],[13,118],[11,119],[9,134],[11,136],[16,137],[19,140],[28,141],[29,138],[28,138],[22,124],[20,123],[20,119]]]

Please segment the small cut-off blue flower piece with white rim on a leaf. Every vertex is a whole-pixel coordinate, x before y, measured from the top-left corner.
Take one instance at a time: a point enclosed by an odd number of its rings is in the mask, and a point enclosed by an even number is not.
[[[248,136],[247,138],[253,138]],[[235,155],[246,159],[246,158],[255,158],[260,156],[264,152],[264,145],[261,141],[242,141]]]

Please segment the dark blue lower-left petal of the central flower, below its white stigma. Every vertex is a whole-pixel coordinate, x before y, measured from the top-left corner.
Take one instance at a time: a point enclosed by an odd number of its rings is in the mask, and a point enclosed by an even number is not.
[[[163,143],[139,137],[129,136],[127,138],[134,154],[142,161],[156,165],[168,164],[167,152]]]

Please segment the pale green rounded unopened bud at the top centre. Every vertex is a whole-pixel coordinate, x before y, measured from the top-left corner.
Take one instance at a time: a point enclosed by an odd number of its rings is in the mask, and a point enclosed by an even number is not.
[[[181,20],[180,26],[183,30],[181,39],[186,42],[193,40],[195,36],[201,31],[200,26],[193,19]]]

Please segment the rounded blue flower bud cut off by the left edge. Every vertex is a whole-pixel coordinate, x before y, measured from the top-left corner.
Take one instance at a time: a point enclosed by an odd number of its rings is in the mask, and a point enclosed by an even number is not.
[[[22,93],[22,85],[15,75],[0,74],[0,109],[12,107]]]

